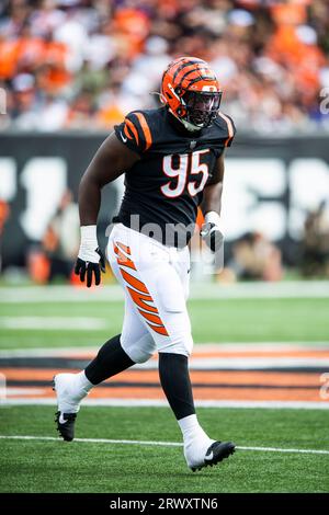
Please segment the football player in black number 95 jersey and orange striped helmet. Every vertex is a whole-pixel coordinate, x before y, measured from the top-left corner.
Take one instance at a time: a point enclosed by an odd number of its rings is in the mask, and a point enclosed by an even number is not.
[[[201,427],[189,376],[192,335],[186,310],[189,240],[197,206],[202,237],[212,250],[223,241],[220,197],[224,150],[235,126],[219,111],[222,91],[209,66],[194,57],[170,62],[162,77],[163,106],[134,111],[99,148],[79,187],[81,245],[75,272],[99,285],[104,258],[97,238],[101,190],[125,173],[125,194],[106,248],[125,293],[122,333],[109,340],[79,374],[58,374],[57,428],[66,440],[81,400],[95,385],[147,362],[157,351],[161,387],[181,428],[193,471],[231,455],[231,442]]]

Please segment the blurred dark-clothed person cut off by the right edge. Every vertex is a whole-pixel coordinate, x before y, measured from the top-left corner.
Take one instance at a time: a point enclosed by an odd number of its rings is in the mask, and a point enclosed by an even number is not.
[[[329,209],[322,202],[308,214],[302,242],[302,273],[306,277],[329,277]]]

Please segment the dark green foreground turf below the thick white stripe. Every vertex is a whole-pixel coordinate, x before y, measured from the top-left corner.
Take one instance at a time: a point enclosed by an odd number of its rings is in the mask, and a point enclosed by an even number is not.
[[[52,407],[0,409],[2,435],[55,436]],[[329,449],[328,412],[200,409],[208,433],[238,446]],[[77,436],[180,442],[166,408],[83,408]],[[190,472],[181,447],[1,440],[1,492],[328,492],[329,455],[237,450]]]

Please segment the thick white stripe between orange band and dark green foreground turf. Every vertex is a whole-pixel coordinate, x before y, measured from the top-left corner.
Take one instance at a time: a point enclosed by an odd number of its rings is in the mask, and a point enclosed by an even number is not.
[[[1,407],[10,405],[56,405],[56,399],[3,399]],[[158,399],[84,399],[83,405],[91,408],[168,408],[166,400]],[[196,408],[234,408],[234,409],[274,409],[274,410],[329,410],[329,401],[213,401],[196,400]]]

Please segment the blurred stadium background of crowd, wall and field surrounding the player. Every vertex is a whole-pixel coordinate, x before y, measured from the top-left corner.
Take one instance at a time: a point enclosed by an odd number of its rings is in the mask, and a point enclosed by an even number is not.
[[[327,1],[1,2],[2,492],[328,492],[328,53]],[[150,93],[180,55],[211,62],[238,128],[225,268],[194,265],[190,311],[200,417],[240,451],[193,480],[156,358],[92,392],[84,440],[69,448],[55,436],[49,387],[123,317],[109,271],[91,291],[71,275],[79,178],[128,111],[158,105]],[[120,181],[104,191],[103,245],[122,191]]]

